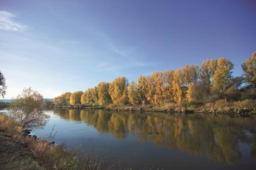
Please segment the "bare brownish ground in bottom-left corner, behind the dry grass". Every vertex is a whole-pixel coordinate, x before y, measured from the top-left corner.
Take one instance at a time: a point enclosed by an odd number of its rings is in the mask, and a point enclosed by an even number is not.
[[[0,169],[44,169],[33,154],[7,134],[0,132]]]

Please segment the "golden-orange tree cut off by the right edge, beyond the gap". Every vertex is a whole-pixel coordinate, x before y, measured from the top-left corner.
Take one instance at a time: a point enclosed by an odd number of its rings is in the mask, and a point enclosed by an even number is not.
[[[243,76],[245,81],[254,86],[256,85],[256,52],[252,54],[245,62],[242,64],[242,69],[244,71]]]

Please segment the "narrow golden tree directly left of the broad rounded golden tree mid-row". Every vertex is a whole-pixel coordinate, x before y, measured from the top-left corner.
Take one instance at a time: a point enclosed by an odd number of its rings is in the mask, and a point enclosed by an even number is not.
[[[101,82],[97,85],[98,89],[98,104],[99,105],[107,105],[111,103],[111,96],[109,94],[109,86],[110,83]]]

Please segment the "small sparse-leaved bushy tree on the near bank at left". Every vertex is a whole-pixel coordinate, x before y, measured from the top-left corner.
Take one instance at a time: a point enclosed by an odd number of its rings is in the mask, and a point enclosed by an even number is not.
[[[43,96],[30,88],[23,89],[9,106],[9,115],[16,119],[19,126],[32,130],[46,125],[49,115],[43,111]]]

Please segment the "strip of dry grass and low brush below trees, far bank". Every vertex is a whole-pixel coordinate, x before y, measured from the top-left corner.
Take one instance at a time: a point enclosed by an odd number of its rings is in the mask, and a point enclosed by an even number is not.
[[[256,114],[256,100],[227,102],[218,100],[215,103],[167,103],[164,105],[115,105],[110,104],[105,109],[120,111],[150,111],[150,112],[195,112],[216,114]]]

